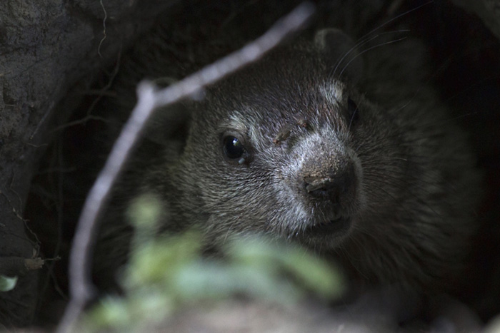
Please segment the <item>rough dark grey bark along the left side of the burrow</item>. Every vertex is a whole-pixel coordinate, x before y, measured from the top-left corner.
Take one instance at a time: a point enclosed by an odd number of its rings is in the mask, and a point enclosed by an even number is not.
[[[6,0],[0,6],[0,256],[31,258],[21,218],[29,183],[69,88],[91,78],[175,1]],[[106,28],[104,28],[104,25]],[[81,88],[90,82],[80,82]],[[74,98],[78,98],[75,94]],[[28,232],[29,233],[29,232]],[[1,270],[1,267],[0,267]],[[0,322],[31,322],[36,271],[0,294]]]

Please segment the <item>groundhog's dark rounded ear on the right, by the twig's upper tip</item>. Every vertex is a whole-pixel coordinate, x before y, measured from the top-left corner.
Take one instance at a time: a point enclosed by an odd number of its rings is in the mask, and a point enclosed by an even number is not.
[[[334,76],[347,78],[351,83],[363,75],[363,59],[351,37],[339,29],[323,29],[316,32],[314,43],[331,67]]]

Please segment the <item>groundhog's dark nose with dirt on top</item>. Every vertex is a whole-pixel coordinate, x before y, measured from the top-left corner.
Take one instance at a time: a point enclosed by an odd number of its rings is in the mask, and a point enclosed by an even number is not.
[[[306,192],[319,200],[328,200],[333,204],[345,204],[354,198],[356,175],[350,163],[343,168],[326,170],[319,175],[304,177]]]

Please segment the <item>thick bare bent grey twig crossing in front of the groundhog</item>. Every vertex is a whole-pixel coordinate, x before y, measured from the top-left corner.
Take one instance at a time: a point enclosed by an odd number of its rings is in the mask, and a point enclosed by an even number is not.
[[[64,312],[64,317],[59,324],[58,332],[71,330],[84,306],[94,294],[94,286],[91,285],[90,280],[90,258],[94,244],[96,220],[104,208],[106,198],[109,196],[111,187],[118,177],[126,158],[130,155],[144,128],[144,124],[154,109],[189,97],[193,93],[200,91],[204,86],[220,80],[252,61],[256,61],[264,53],[278,45],[291,32],[303,26],[313,11],[311,4],[301,4],[256,41],[172,86],[157,90],[151,83],[143,82],[139,84],[136,107],[116,140],[103,170],[101,170],[91,188],[76,227],[69,261],[69,292],[71,298]]]

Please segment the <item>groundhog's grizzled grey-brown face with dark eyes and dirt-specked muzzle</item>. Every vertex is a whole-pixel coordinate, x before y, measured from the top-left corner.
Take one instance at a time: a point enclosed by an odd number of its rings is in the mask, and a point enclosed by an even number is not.
[[[309,54],[276,51],[207,91],[176,178],[190,219],[209,235],[262,231],[333,248],[370,205],[383,210],[364,175],[366,163],[388,164],[377,155],[386,148],[367,143],[386,135],[370,133],[381,117],[326,68]]]

